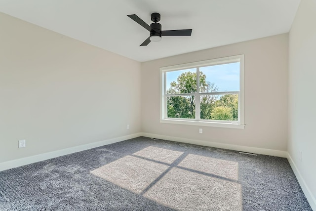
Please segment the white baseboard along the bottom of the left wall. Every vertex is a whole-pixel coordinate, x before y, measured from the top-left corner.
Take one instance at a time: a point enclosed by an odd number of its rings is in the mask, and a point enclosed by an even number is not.
[[[20,167],[20,166],[24,166],[24,165],[28,165],[28,164],[32,164],[32,163],[36,163],[36,162],[40,162],[40,161],[44,161],[44,160],[51,159],[51,158],[56,158],[56,157],[63,156],[63,155],[72,154],[72,153],[87,150],[87,149],[92,149],[95,147],[100,147],[103,145],[116,143],[119,141],[124,141],[124,140],[131,139],[131,138],[136,138],[136,137],[139,137],[141,135],[142,135],[141,133],[135,133],[135,134],[131,134],[131,135],[120,136],[117,138],[111,138],[111,139],[107,139],[107,140],[103,140],[103,141],[98,141],[98,142],[94,142],[94,143],[84,144],[84,145],[80,145],[80,146],[70,147],[70,148],[61,149],[61,150],[57,150],[57,151],[53,151],[53,152],[47,152],[47,153],[43,153],[43,154],[39,154],[39,155],[26,157],[26,158],[21,158],[21,159],[3,162],[3,163],[0,163],[0,171],[6,170],[6,169],[12,169],[12,168],[16,168],[16,167]]]

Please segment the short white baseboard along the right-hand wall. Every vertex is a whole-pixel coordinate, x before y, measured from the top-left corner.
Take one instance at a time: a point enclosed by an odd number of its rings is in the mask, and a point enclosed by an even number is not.
[[[310,203],[311,208],[316,211],[316,199],[313,196],[312,191],[309,189],[309,187],[307,186],[304,178],[302,177],[302,174],[300,173],[300,171],[298,170],[298,168],[296,167],[293,159],[291,158],[290,154],[287,153],[287,160],[291,165],[291,168],[293,169],[295,176],[298,180],[298,182],[301,185],[301,188],[306,196],[307,201]]]

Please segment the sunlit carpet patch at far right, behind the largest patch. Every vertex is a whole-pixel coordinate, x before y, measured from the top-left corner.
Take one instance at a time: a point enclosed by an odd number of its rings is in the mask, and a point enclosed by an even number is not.
[[[189,154],[178,166],[238,180],[238,163],[234,161]]]

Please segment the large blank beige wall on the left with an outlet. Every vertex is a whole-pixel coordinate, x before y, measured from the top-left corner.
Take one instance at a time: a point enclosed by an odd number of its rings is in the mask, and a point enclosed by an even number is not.
[[[139,62],[3,13],[0,29],[0,163],[141,131]]]

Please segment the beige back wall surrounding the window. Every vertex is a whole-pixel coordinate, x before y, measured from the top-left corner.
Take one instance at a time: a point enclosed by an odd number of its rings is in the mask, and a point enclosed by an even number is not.
[[[166,49],[168,50],[168,49]],[[244,129],[159,123],[159,68],[244,54]],[[142,131],[286,151],[288,34],[142,63]],[[198,133],[203,128],[203,133]]]

